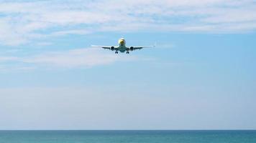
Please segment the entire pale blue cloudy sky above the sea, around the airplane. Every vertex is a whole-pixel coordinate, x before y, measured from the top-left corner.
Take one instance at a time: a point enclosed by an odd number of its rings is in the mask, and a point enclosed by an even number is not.
[[[254,0],[0,0],[0,129],[256,129],[255,39]]]

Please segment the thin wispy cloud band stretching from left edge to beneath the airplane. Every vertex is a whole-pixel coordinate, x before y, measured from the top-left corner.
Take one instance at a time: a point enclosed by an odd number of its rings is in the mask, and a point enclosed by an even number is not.
[[[113,64],[117,61],[136,61],[143,59],[137,56],[121,56],[101,50],[102,49],[84,48],[45,52],[43,54],[21,57],[0,56],[0,69],[1,71],[8,71],[8,69],[30,70],[37,69],[38,67],[44,67],[46,69],[90,68],[92,66]]]

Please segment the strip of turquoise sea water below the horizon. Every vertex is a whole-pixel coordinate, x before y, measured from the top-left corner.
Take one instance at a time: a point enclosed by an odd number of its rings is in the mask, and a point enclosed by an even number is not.
[[[256,131],[0,131],[0,143],[256,143]]]

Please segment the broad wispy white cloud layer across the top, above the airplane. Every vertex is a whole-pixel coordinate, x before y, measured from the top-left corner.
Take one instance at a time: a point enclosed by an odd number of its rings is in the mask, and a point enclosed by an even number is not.
[[[254,31],[255,9],[253,0],[3,1],[0,43],[96,31]]]

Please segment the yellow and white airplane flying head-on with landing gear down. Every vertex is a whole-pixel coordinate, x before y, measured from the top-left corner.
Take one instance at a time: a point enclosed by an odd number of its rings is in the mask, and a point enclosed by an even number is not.
[[[100,47],[103,49],[109,49],[111,51],[115,51],[115,54],[118,54],[118,51],[124,53],[124,51],[127,51],[127,54],[129,54],[129,51],[134,51],[137,49],[142,49],[142,48],[147,48],[147,47],[154,47],[154,46],[126,46],[126,41],[124,38],[119,39],[118,41],[119,46],[96,46],[96,45],[91,45],[92,47]]]

